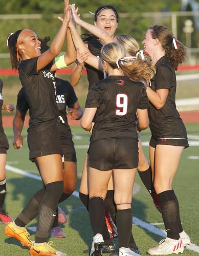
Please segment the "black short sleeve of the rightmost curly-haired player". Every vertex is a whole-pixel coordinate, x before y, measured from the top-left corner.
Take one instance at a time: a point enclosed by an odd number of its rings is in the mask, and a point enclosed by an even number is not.
[[[171,82],[173,79],[173,72],[166,65],[161,65],[157,69],[157,73],[154,77],[156,84],[156,90],[159,89],[171,89]]]

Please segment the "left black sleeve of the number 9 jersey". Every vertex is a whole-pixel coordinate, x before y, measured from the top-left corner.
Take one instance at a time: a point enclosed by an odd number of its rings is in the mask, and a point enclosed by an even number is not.
[[[99,108],[100,90],[97,84],[93,84],[86,98],[85,108]]]

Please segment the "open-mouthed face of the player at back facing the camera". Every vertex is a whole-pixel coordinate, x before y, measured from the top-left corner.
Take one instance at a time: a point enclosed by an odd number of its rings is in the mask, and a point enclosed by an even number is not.
[[[110,36],[114,36],[118,23],[116,14],[112,9],[103,9],[97,15],[95,26],[105,30]]]

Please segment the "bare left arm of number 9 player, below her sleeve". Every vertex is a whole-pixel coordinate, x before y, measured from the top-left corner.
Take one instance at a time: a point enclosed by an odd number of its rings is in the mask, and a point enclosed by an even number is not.
[[[86,131],[91,131],[92,122],[97,108],[85,108],[81,118],[81,127]]]

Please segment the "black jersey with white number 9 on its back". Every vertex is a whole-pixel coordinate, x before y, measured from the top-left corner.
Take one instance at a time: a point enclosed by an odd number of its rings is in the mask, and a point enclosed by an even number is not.
[[[148,98],[143,83],[125,76],[108,76],[91,87],[85,108],[98,108],[91,142],[137,138],[136,111],[148,108]]]

